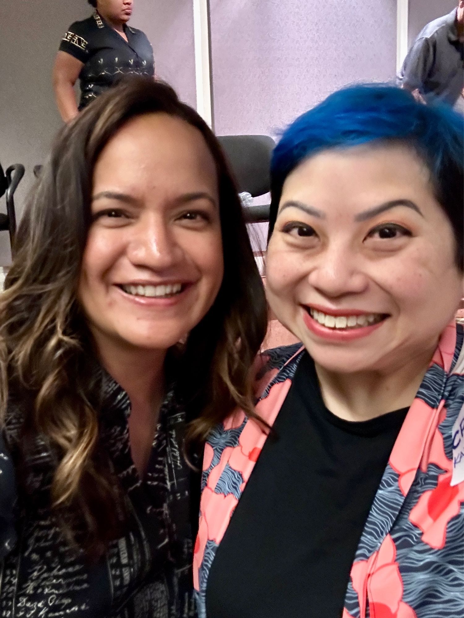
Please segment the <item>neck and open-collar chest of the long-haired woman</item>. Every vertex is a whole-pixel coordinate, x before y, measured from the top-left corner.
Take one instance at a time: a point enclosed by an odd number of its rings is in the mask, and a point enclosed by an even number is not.
[[[121,349],[99,339],[95,337],[101,364],[126,391],[132,408],[157,409],[165,391],[166,350]]]

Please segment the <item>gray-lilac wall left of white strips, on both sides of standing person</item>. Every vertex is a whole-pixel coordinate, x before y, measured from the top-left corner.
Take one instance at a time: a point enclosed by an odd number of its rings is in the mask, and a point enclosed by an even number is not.
[[[0,161],[22,163],[24,180],[16,193],[20,215],[32,168],[48,150],[61,119],[54,104],[51,68],[70,23],[85,19],[86,0],[0,0]],[[131,25],[147,33],[157,74],[195,103],[191,0],[135,0]],[[4,199],[0,208],[4,209]],[[0,265],[10,260],[7,233],[0,234]]]

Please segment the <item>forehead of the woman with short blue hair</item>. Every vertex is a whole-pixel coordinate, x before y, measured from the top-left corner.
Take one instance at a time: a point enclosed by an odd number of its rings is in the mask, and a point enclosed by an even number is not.
[[[327,150],[299,164],[286,178],[282,200],[309,200],[319,206],[333,199],[349,203],[433,197],[427,167],[401,145]]]

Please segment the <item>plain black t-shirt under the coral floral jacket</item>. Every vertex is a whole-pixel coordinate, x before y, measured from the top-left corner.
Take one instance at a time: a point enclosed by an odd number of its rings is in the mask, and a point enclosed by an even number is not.
[[[340,618],[407,409],[333,415],[305,354],[213,561],[207,618]]]

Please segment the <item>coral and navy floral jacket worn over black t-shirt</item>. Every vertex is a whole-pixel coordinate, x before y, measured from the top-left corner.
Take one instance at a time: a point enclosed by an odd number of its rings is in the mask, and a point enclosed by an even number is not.
[[[398,435],[351,567],[342,618],[462,618],[464,614],[464,350],[451,324]],[[257,413],[273,425],[304,348],[270,350]],[[236,411],[205,446],[194,552],[199,617],[208,574],[267,439]]]

